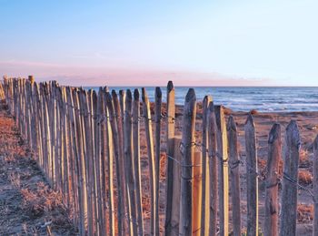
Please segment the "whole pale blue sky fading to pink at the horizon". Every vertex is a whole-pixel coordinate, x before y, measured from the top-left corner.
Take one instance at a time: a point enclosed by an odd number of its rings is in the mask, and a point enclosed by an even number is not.
[[[83,86],[318,86],[318,1],[0,0],[0,75]]]

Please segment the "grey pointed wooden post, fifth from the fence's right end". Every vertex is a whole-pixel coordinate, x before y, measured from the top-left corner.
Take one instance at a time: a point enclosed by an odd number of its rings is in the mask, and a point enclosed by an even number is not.
[[[232,197],[232,222],[234,236],[241,235],[241,188],[240,188],[240,159],[237,147],[237,128],[234,117],[227,122],[227,136],[229,141],[229,164]]]

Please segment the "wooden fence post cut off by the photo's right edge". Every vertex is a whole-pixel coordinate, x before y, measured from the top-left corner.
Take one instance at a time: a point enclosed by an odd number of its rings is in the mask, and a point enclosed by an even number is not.
[[[313,141],[313,236],[318,235],[318,135]]]

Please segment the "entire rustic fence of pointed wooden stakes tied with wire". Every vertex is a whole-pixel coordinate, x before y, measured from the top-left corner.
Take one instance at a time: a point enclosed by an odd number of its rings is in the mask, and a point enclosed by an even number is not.
[[[159,87],[155,89],[154,115],[145,89],[141,96],[139,92],[135,89],[133,94],[128,89],[117,94],[107,87],[86,91],[59,86],[55,81],[37,84],[33,77],[5,78],[0,83],[0,98],[5,97],[46,179],[63,194],[80,235],[159,235],[160,230],[165,235],[229,235],[230,231],[241,235],[241,194],[247,197],[247,235],[258,235],[259,180],[266,186],[264,235],[295,235],[298,188],[313,197],[313,235],[318,235],[318,138],[313,143],[312,191],[298,183],[301,142],[295,121],[285,130],[282,175],[278,166],[282,159],[281,126],[274,124],[270,130],[262,178],[257,169],[251,114],[244,126],[243,162],[234,118],[230,116],[225,123],[224,108],[214,106],[212,97],[204,97],[202,137],[198,142],[194,135],[197,106],[193,88],[184,101],[181,137],[175,135],[173,83],[167,86],[164,113]],[[165,128],[164,139],[161,125]],[[145,169],[141,167],[141,136],[146,140],[149,190],[142,189]],[[163,143],[164,170],[160,165]],[[241,165],[246,170],[245,193],[240,188]],[[165,172],[165,193],[159,189],[161,171]],[[281,209],[279,184],[283,186]],[[150,217],[143,209],[145,191],[150,196]],[[164,212],[159,209],[160,195],[164,195]]]

